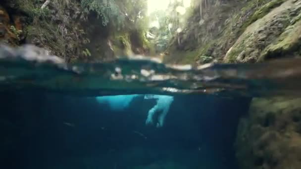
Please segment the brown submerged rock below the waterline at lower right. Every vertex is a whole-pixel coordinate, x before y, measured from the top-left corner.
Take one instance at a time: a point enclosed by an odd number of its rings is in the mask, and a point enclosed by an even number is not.
[[[242,169],[301,166],[301,99],[254,98],[236,141]]]

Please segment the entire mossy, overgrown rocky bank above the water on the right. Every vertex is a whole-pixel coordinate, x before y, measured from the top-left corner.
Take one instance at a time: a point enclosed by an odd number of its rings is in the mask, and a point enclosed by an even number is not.
[[[300,0],[229,1],[205,11],[208,17],[201,25],[200,16],[194,13],[183,35],[170,43],[165,62],[202,64],[201,56],[205,55],[222,63],[250,63],[274,58],[271,56],[274,54],[281,57],[277,55],[300,53],[296,36],[294,41],[286,38],[286,42],[293,44],[285,44],[292,47],[284,53],[279,52],[276,45],[277,39],[280,37],[278,42],[281,42],[284,37],[281,34],[288,34],[292,27],[295,30],[291,33],[298,32],[300,5]],[[184,48],[177,47],[177,38],[182,39]],[[275,47],[278,49],[273,52]]]

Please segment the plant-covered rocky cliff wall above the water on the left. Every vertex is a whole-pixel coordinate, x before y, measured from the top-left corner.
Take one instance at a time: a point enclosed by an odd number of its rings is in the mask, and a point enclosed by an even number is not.
[[[142,32],[102,26],[101,18],[83,9],[80,0],[3,0],[0,41],[30,43],[73,62],[99,62],[118,55],[149,54]],[[136,38],[132,38],[136,37]]]

